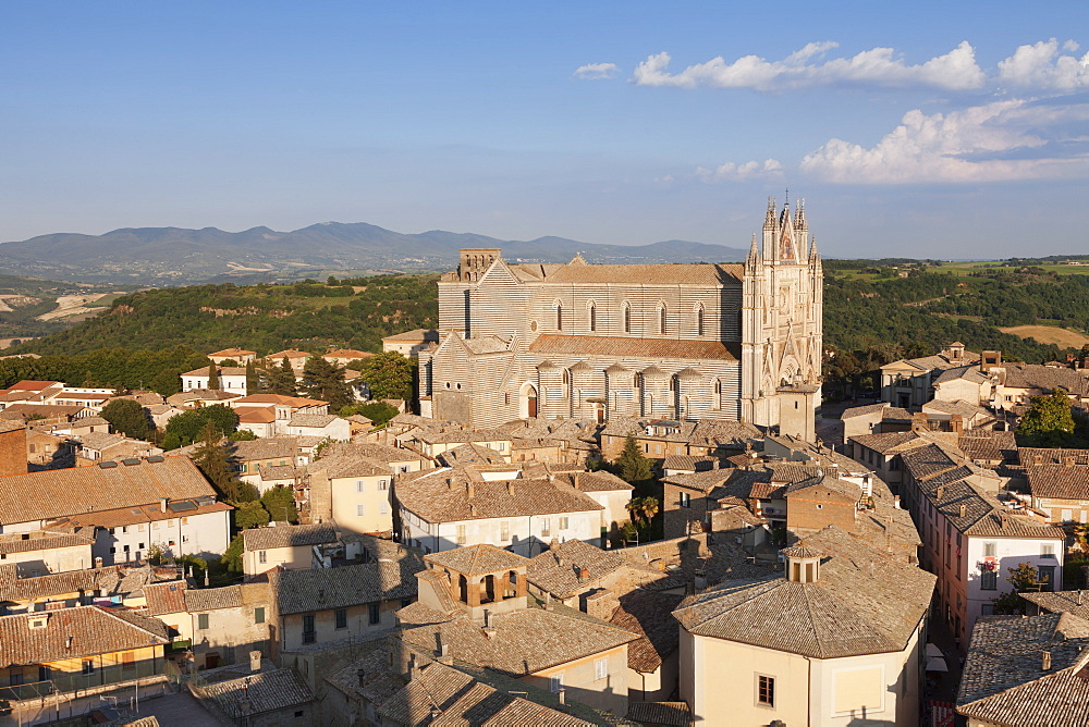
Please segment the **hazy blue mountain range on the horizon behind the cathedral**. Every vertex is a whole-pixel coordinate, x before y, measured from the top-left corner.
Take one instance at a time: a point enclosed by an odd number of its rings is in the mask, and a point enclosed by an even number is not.
[[[733,262],[747,250],[671,239],[653,245],[595,245],[563,237],[504,241],[435,230],[406,235],[372,224],[325,222],[293,232],[254,227],[122,229],[105,235],[57,233],[0,245],[0,271],[88,283],[188,285],[256,283],[330,273],[451,270],[463,247],[499,247],[511,261]]]

